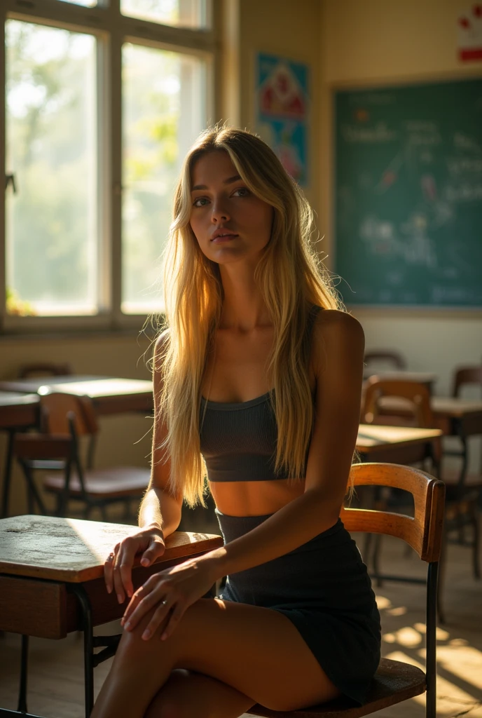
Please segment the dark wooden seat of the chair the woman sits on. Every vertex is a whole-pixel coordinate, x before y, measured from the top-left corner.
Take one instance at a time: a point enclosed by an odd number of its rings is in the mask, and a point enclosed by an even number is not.
[[[354,707],[348,699],[337,698],[319,706],[290,712],[272,711],[257,704],[250,708],[247,714],[263,718],[359,718],[419,696],[425,690],[425,673],[420,668],[411,666],[410,663],[382,658],[367,701],[362,706]]]

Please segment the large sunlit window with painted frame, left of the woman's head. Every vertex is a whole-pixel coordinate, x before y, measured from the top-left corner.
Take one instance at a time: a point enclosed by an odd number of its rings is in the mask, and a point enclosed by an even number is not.
[[[4,330],[141,326],[213,115],[209,0],[6,4]]]

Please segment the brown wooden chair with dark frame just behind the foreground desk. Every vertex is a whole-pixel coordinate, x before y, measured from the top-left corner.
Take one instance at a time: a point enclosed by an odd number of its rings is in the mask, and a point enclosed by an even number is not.
[[[43,479],[43,488],[57,498],[57,516],[65,516],[70,500],[84,504],[84,517],[97,507],[104,520],[108,504],[139,500],[146,490],[150,470],[141,467],[93,468],[95,439],[98,423],[90,398],[67,393],[52,392],[41,396],[41,432],[19,434],[14,442],[14,454],[24,470],[29,495],[29,510],[37,503],[41,513],[45,510],[42,498],[35,488],[34,470],[55,470]],[[88,456],[83,467],[80,457],[80,439],[89,440]]]

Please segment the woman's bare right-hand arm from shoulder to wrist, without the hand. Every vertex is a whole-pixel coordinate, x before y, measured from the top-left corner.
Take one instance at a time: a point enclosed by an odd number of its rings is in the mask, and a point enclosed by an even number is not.
[[[364,333],[354,317],[318,314],[313,327],[315,421],[305,493],[260,526],[202,556],[214,579],[264,564],[334,526],[341,510],[359,426]]]

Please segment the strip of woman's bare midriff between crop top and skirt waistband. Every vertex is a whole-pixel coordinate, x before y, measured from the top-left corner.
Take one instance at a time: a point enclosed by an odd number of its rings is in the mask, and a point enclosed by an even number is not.
[[[210,481],[212,498],[228,516],[265,516],[283,508],[305,490],[303,479]]]

